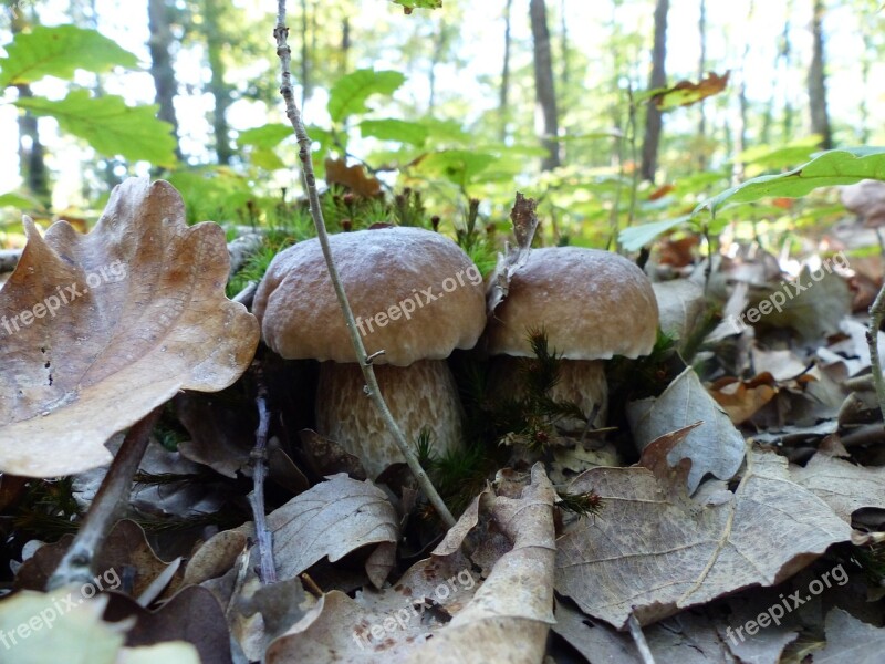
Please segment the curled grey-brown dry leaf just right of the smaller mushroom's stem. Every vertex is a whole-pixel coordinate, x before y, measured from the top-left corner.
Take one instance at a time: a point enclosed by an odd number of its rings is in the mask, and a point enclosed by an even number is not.
[[[627,404],[627,418],[639,449],[665,434],[701,423],[667,457],[671,464],[691,459],[688,473],[690,494],[707,473],[719,479],[730,479],[743,460],[743,436],[704,388],[690,366],[660,396]]]

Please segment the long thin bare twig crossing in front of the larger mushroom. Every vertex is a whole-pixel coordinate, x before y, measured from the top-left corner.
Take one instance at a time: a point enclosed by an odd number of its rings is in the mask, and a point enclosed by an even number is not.
[[[396,440],[396,444],[399,447],[399,452],[405,457],[408,467],[415,474],[421,490],[424,490],[427,499],[434,506],[446,526],[451,528],[455,526],[455,518],[451,516],[451,512],[449,512],[446,504],[442,502],[442,498],[440,498],[439,492],[437,492],[436,488],[430,481],[430,478],[427,477],[427,473],[425,473],[424,468],[421,468],[418,457],[415,455],[415,452],[412,449],[406,440],[406,437],[403,435],[403,430],[399,428],[399,425],[397,425],[396,419],[394,419],[394,416],[391,414],[391,409],[387,407],[387,403],[384,401],[384,397],[381,394],[378,381],[375,378],[375,371],[373,370],[372,364],[367,361],[368,359],[366,356],[366,349],[363,345],[363,340],[356,330],[356,321],[353,318],[353,311],[351,310],[350,302],[347,302],[347,295],[345,294],[344,287],[341,283],[341,277],[339,276],[335,262],[332,259],[332,250],[329,246],[329,234],[326,232],[325,221],[323,220],[323,211],[320,207],[320,194],[316,190],[316,176],[313,172],[311,139],[304,128],[304,122],[301,118],[301,113],[299,112],[298,106],[295,106],[295,98],[292,92],[292,51],[287,43],[289,28],[285,27],[285,0],[278,0],[277,27],[273,29],[273,37],[277,40],[277,55],[280,58],[280,69],[282,71],[280,94],[285,101],[285,115],[289,118],[289,122],[292,124],[292,128],[294,129],[295,137],[298,139],[298,156],[301,160],[301,177],[304,184],[304,189],[308,193],[308,200],[310,201],[311,206],[311,217],[313,218],[313,224],[316,227],[316,237],[320,240],[320,247],[323,250],[323,257],[325,258],[326,267],[329,268],[329,276],[332,279],[332,284],[335,288],[335,294],[337,295],[339,304],[341,305],[341,310],[344,314],[344,322],[346,323],[347,332],[351,335],[351,343],[353,344],[354,351],[356,351],[356,359],[366,381],[368,395],[375,403],[375,406],[378,408],[385,425],[393,434],[394,440]]]

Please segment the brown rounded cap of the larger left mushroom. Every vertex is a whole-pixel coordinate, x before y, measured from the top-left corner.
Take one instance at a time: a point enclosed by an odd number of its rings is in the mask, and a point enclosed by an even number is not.
[[[408,366],[476,345],[486,324],[479,269],[445,236],[412,227],[329,238],[366,352]],[[316,239],[277,255],[256,292],[264,342],[289,360],[356,362]]]

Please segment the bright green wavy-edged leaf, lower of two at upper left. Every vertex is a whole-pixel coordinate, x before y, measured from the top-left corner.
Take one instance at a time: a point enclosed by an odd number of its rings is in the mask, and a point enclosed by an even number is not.
[[[93,98],[87,90],[73,90],[58,101],[20,98],[15,105],[54,117],[63,131],[83,138],[102,155],[158,166],[175,164],[171,125],[156,118],[155,105],[127,106],[123,97],[111,94]]]

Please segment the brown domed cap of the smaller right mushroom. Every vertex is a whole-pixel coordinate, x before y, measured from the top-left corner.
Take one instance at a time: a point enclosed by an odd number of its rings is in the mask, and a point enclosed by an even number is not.
[[[658,311],[652,282],[626,258],[580,247],[533,249],[489,324],[489,353],[531,357],[530,329],[568,360],[652,352]]]

